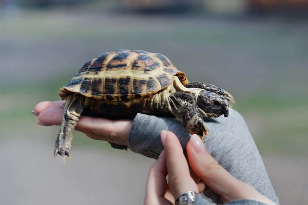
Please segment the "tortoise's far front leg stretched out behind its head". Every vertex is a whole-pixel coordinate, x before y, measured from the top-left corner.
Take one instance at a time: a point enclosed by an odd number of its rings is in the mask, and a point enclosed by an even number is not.
[[[186,84],[184,86],[186,88],[201,88],[203,90],[211,91],[211,92],[214,92],[216,94],[224,96],[224,98],[226,98],[231,103],[235,103],[235,100],[234,100],[233,96],[230,93],[228,93],[227,91],[225,91],[225,90],[223,90],[221,88],[218,88],[217,86],[215,86],[213,84],[200,83],[200,82],[191,82],[191,83],[188,83],[188,84]]]

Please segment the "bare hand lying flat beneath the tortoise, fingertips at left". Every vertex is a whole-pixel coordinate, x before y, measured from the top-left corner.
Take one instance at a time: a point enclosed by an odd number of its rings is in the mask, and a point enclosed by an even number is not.
[[[44,101],[38,103],[32,114],[38,117],[38,125],[61,125],[64,101]],[[89,116],[81,116],[75,130],[83,132],[96,140],[109,141],[118,145],[127,145],[127,136],[132,120],[108,120]]]

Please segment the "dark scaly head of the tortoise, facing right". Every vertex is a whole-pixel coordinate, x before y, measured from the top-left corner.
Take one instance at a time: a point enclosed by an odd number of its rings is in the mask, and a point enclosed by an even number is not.
[[[203,90],[197,98],[198,107],[203,110],[208,117],[219,117],[229,115],[229,103],[226,98],[214,92]]]

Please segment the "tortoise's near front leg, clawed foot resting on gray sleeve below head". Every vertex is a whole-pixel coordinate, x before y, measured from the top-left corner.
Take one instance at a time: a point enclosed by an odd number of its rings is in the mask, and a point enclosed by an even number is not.
[[[205,113],[197,106],[194,97],[188,93],[175,92],[170,94],[171,113],[181,119],[190,134],[197,134],[203,140],[208,136],[208,129],[203,120]],[[203,115],[203,116],[202,116]]]

